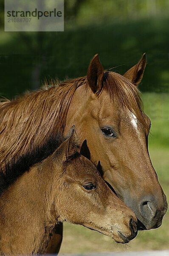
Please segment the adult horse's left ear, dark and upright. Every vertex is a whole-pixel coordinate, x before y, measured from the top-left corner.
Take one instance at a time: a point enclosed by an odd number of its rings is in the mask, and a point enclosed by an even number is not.
[[[99,61],[99,55],[94,55],[87,70],[87,81],[93,91],[98,93],[102,89],[104,70]]]

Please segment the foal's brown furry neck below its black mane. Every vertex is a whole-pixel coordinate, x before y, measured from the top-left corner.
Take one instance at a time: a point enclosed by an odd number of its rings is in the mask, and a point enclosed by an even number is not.
[[[56,224],[49,184],[43,170],[33,167],[4,192],[0,198],[0,253],[45,253]]]

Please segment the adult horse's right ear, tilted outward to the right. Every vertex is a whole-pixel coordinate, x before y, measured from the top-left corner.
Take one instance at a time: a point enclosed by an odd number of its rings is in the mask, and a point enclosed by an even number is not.
[[[123,76],[129,79],[133,84],[138,86],[144,74],[146,67],[146,53],[143,54],[140,61],[135,66],[131,67]]]

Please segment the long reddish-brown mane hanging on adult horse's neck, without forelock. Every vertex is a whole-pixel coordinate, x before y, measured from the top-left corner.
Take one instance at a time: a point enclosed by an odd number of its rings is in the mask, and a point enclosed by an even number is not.
[[[71,98],[83,80],[74,79],[0,103],[0,171],[13,157],[29,151],[32,144],[41,145],[47,134],[63,134]]]

